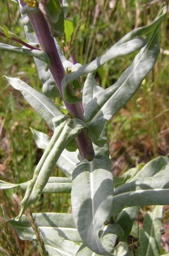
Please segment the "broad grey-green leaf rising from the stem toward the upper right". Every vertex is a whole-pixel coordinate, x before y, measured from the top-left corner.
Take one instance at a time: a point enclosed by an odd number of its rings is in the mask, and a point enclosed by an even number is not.
[[[160,52],[161,23],[156,29],[149,43],[141,49],[132,65],[123,72],[118,81],[87,104],[84,116],[86,122],[89,122],[88,131],[93,143],[98,145],[97,138],[94,137],[98,127],[104,127],[106,121],[132,98],[145,76],[153,68]]]

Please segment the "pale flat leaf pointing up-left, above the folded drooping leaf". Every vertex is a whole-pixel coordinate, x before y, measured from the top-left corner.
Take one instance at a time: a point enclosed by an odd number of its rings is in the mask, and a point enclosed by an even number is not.
[[[52,100],[48,99],[42,93],[39,93],[25,82],[18,78],[4,76],[9,84],[16,90],[19,90],[30,106],[54,129],[52,119],[61,115],[61,112],[55,107]]]

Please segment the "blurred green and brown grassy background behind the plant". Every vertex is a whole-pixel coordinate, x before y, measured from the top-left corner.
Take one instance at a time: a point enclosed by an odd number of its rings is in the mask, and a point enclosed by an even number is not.
[[[138,26],[149,24],[157,15],[162,0],[74,0],[71,1],[68,19],[74,27],[83,19],[75,43],[61,35],[62,50],[69,56],[74,53],[78,63],[86,64],[101,55],[127,32]],[[167,0],[167,3],[169,1]],[[1,0],[0,26],[5,26],[26,41],[18,5],[11,0]],[[70,27],[66,27],[71,31]],[[1,42],[10,43],[0,37]],[[12,42],[18,46],[17,43]],[[114,59],[105,64],[95,74],[97,83],[107,88],[117,81],[121,73],[131,64],[131,55]],[[130,102],[116,115],[108,126],[111,148],[112,171],[119,176],[127,169],[147,163],[159,155],[169,154],[169,9],[164,19],[161,33],[161,53],[151,73]],[[0,77],[17,77],[42,91],[33,58],[0,51]],[[81,79],[83,85],[85,77]],[[58,98],[58,106],[62,101]],[[29,127],[52,134],[52,130],[38,114],[14,90],[6,80],[0,79],[0,179],[21,183],[33,176],[42,150],[34,143]],[[12,160],[11,160],[12,159]],[[62,176],[55,168],[52,176]],[[4,205],[9,218],[17,216],[19,206],[12,194],[21,194],[20,189],[0,190],[0,203]],[[24,191],[22,192],[22,196]],[[139,224],[146,214],[142,208]],[[42,194],[41,199],[32,206],[33,212],[71,212],[70,197],[67,194]],[[164,207],[162,233],[162,253],[169,252],[169,210]],[[16,235],[15,235],[16,238]],[[33,243],[20,241],[23,255],[38,255]],[[132,241],[132,240],[131,240]]]

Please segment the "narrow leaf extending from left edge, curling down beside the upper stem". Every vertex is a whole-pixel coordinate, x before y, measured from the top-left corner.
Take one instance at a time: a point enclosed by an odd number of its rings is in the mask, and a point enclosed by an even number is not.
[[[36,49],[32,50],[25,46],[16,47],[16,46],[4,44],[4,43],[0,43],[0,50],[14,52],[14,53],[20,53],[20,54],[26,54],[29,56],[36,57],[37,59],[40,59],[45,63],[46,70],[48,70],[48,68],[49,68],[50,59],[49,59],[48,55],[46,54],[46,52],[44,52],[44,51],[36,50]]]

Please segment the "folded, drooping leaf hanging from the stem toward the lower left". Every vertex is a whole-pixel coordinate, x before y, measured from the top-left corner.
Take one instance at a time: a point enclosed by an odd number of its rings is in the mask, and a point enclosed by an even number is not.
[[[35,169],[33,179],[27,187],[26,194],[21,202],[21,211],[16,220],[19,220],[26,208],[39,198],[65,146],[83,128],[86,128],[83,121],[69,119],[67,115],[53,118],[53,125],[55,127],[54,134]]]

